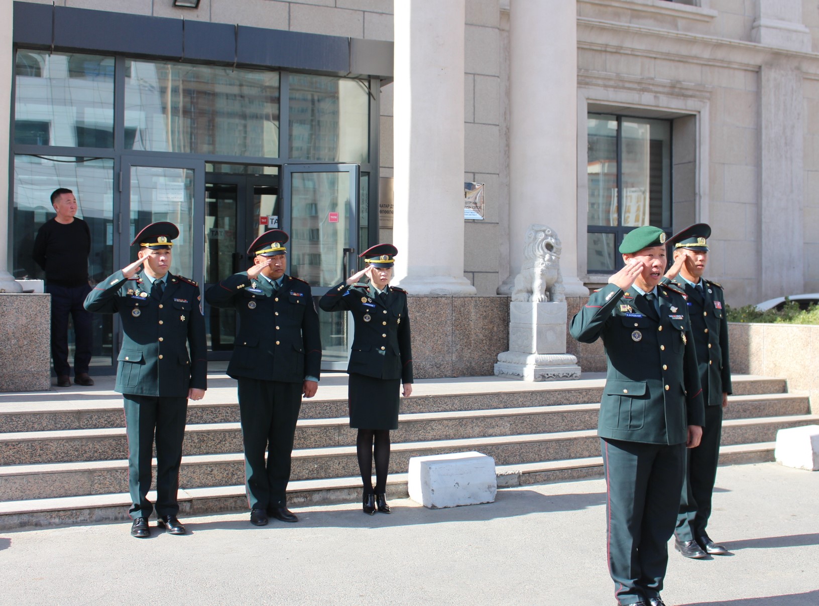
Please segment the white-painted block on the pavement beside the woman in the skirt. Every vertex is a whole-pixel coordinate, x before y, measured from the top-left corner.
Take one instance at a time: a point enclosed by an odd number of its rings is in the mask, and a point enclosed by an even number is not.
[[[409,498],[430,509],[493,503],[497,489],[495,460],[480,452],[409,460]]]

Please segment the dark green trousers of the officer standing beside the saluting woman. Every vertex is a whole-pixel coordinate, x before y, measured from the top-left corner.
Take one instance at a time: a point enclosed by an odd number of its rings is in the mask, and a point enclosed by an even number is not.
[[[248,505],[284,507],[303,384],[242,378],[238,382]]]

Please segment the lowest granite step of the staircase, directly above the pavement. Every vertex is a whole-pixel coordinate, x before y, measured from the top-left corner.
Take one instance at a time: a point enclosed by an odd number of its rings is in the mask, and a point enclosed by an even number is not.
[[[773,460],[774,442],[722,447],[720,464],[751,463]],[[603,461],[600,456],[572,460],[551,460],[525,465],[498,465],[498,487],[561,482],[567,479],[600,478]],[[718,480],[717,480],[718,481]],[[361,483],[356,476],[319,480],[292,481],[287,487],[287,502],[292,509],[329,503],[360,501]],[[391,474],[387,479],[387,496],[405,498],[406,474]],[[156,500],[156,493],[149,495]],[[22,527],[57,526],[94,522],[123,522],[129,519],[130,499],[127,493],[39,498],[0,502],[0,531]],[[179,515],[224,513],[235,511],[247,517],[244,486],[184,488],[179,490]]]

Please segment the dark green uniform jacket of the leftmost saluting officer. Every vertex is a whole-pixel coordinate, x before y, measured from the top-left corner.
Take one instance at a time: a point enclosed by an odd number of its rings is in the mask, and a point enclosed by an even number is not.
[[[142,296],[142,295],[145,296]],[[207,387],[205,320],[196,282],[172,276],[161,301],[151,281],[115,272],[88,293],[89,312],[119,313],[124,339],[115,390],[137,396],[188,397]]]

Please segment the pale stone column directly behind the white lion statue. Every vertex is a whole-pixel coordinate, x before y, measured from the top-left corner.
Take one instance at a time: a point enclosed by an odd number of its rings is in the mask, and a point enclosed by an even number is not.
[[[500,294],[520,272],[531,223],[554,227],[563,240],[566,296],[589,294],[577,271],[576,0],[510,2],[510,267]]]

